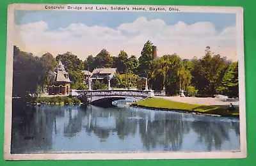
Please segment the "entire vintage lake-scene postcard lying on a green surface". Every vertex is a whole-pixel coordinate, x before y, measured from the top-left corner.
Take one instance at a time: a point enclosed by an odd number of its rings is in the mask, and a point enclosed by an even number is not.
[[[10,4],[5,160],[245,158],[243,8]]]

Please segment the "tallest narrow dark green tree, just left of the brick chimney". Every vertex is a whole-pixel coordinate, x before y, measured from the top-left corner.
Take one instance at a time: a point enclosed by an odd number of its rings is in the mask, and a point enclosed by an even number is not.
[[[145,43],[143,49],[141,50],[141,56],[138,59],[138,74],[141,77],[148,77],[149,75],[150,66],[152,65],[153,61],[152,53],[152,43],[148,40],[147,43]]]

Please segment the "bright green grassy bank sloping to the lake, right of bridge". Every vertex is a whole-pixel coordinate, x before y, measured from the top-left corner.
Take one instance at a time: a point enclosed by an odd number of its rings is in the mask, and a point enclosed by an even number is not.
[[[239,116],[238,108],[228,110],[228,107],[225,106],[195,105],[189,103],[173,102],[163,98],[148,98],[146,100],[133,103],[132,105],[149,109],[176,110],[181,112],[195,112],[218,116]]]

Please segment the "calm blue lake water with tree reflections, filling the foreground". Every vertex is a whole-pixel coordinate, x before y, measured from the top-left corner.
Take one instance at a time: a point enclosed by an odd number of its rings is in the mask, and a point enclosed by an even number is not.
[[[12,153],[239,151],[239,120],[124,107],[35,106],[13,117]],[[27,140],[26,137],[33,137]]]

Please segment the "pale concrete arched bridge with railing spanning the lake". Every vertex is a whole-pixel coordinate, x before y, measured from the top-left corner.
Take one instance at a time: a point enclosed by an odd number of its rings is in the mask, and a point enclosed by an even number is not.
[[[83,102],[92,103],[93,105],[102,105],[103,103],[113,102],[115,100],[121,100],[130,98],[132,100],[142,100],[143,98],[154,97],[154,91],[152,90],[72,90],[72,96],[77,96],[83,100]],[[86,101],[84,101],[86,100]]]

